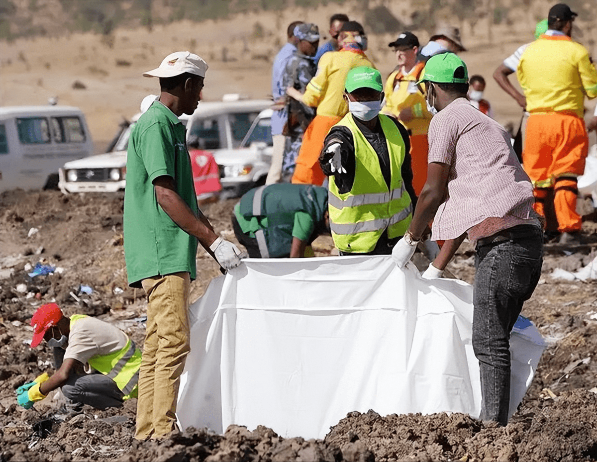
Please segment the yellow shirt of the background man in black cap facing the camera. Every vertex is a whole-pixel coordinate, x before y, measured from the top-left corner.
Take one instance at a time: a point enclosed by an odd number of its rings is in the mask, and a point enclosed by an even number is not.
[[[425,95],[416,85],[425,63],[418,63],[411,72],[404,75],[401,70],[395,70],[386,81],[384,93],[386,104],[381,110],[398,118],[402,109],[410,107],[414,118],[408,122],[401,121],[412,135],[425,135],[429,130],[429,123],[433,115],[427,110]]]

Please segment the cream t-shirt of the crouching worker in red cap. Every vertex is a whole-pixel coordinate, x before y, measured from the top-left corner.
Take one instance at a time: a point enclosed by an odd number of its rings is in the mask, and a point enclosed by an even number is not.
[[[81,318],[70,329],[64,359],[76,359],[85,364],[92,356],[109,355],[122,350],[127,342],[127,334],[112,324],[91,316]]]

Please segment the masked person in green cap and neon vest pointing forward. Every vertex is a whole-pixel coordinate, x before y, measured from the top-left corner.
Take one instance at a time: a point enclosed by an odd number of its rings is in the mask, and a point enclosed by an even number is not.
[[[348,72],[349,113],[331,128],[319,156],[330,181],[330,228],[341,255],[389,255],[417,200],[408,133],[379,113],[382,90],[378,70],[362,66]]]

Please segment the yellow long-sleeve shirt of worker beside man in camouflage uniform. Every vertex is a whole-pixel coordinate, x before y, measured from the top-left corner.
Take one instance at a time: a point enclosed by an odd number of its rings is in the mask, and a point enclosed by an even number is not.
[[[303,95],[303,103],[317,107],[317,115],[344,117],[348,104],[344,101],[344,83],[350,69],[359,66],[376,68],[364,53],[354,50],[328,51],[319,59],[317,73]]]

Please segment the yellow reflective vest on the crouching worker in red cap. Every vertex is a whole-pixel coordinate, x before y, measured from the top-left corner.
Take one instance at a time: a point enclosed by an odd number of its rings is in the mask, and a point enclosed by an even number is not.
[[[70,316],[70,328],[76,321],[87,318],[86,315]],[[110,377],[124,394],[123,399],[136,398],[139,392],[139,367],[141,366],[141,350],[130,338],[123,349],[109,355],[92,356],[89,365],[96,371]]]

